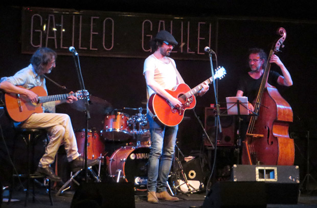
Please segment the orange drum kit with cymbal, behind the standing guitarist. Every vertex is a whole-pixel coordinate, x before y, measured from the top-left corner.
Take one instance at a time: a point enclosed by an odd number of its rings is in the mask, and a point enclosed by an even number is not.
[[[133,182],[135,190],[146,191],[147,163],[150,153],[150,131],[146,109],[124,108],[125,110],[137,110],[138,113],[130,116],[118,109],[112,109],[111,105],[100,98],[89,97],[91,113],[105,114],[103,129],[87,130],[87,158],[101,159],[107,166],[107,175],[114,181]],[[73,107],[83,111],[84,102],[77,101]],[[75,131],[78,152],[84,153],[85,129]],[[106,146],[119,143],[122,146],[116,149],[111,156],[107,156]],[[107,158],[103,160],[104,156]],[[100,171],[100,170],[99,170]]]

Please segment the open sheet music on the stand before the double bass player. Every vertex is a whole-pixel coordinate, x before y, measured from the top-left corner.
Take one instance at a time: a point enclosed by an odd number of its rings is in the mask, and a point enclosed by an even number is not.
[[[239,100],[240,103],[240,114],[241,115],[248,115],[249,111],[247,110],[247,97],[227,97],[225,98],[227,102],[227,109],[228,114],[237,115],[238,114],[238,105],[237,101]]]

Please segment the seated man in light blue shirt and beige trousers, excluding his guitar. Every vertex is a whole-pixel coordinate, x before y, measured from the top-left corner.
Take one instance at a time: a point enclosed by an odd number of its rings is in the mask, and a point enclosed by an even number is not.
[[[0,89],[5,93],[21,95],[32,103],[38,102],[38,95],[29,90],[36,86],[41,86],[47,93],[46,80],[44,74],[49,74],[55,67],[57,54],[49,48],[39,48],[32,56],[31,64],[17,72],[12,77],[3,77]],[[22,86],[22,87],[18,87]],[[83,168],[83,157],[78,153],[76,137],[72,127],[72,122],[67,114],[55,113],[55,106],[61,103],[73,103],[77,98],[70,95],[64,100],[43,103],[41,113],[33,113],[30,117],[21,122],[15,123],[20,128],[40,128],[46,129],[50,135],[50,142],[46,151],[39,161],[36,175],[44,175],[51,180],[61,181],[51,169],[59,146],[65,146],[67,160],[71,163],[73,171]],[[47,113],[51,112],[51,113]],[[98,164],[98,160],[87,160],[87,166]]]

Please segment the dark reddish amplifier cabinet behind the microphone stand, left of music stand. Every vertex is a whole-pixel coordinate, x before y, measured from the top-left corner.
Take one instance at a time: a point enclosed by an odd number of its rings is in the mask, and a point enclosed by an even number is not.
[[[218,132],[217,146],[234,146],[235,145],[235,117],[234,115],[228,115],[225,112],[227,108],[220,108],[220,123],[222,133]],[[205,130],[210,137],[212,143],[215,144],[216,137],[216,108],[205,108]],[[204,138],[205,146],[211,146],[208,138]]]

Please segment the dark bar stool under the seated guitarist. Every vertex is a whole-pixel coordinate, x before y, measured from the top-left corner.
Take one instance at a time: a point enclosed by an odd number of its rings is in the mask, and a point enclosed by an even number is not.
[[[12,174],[12,184],[9,189],[9,200],[8,204],[11,201],[12,198],[12,192],[14,188],[14,178],[26,178],[27,179],[27,188],[25,189],[26,191],[26,198],[25,198],[25,206],[27,206],[28,198],[29,198],[29,189],[30,189],[30,181],[32,181],[33,184],[33,202],[35,202],[35,185],[34,185],[34,180],[38,178],[45,178],[44,176],[37,176],[35,174],[31,174],[31,168],[33,168],[32,162],[34,161],[34,146],[36,144],[36,141],[38,138],[40,138],[42,135],[46,135],[47,138],[47,144],[50,141],[50,138],[47,134],[47,131],[44,129],[24,129],[24,128],[15,128],[15,136],[14,136],[14,146],[13,146],[13,156],[14,156],[14,149],[15,149],[15,142],[19,136],[21,136],[24,140],[24,142],[27,145],[27,172],[26,174],[18,174],[16,171],[13,172]],[[31,150],[32,148],[32,150]],[[31,165],[32,164],[32,165]],[[15,168],[13,167],[15,170]],[[53,199],[51,196],[51,181],[48,179],[48,192],[49,192],[49,197],[50,197],[50,202],[51,205],[53,205]]]

